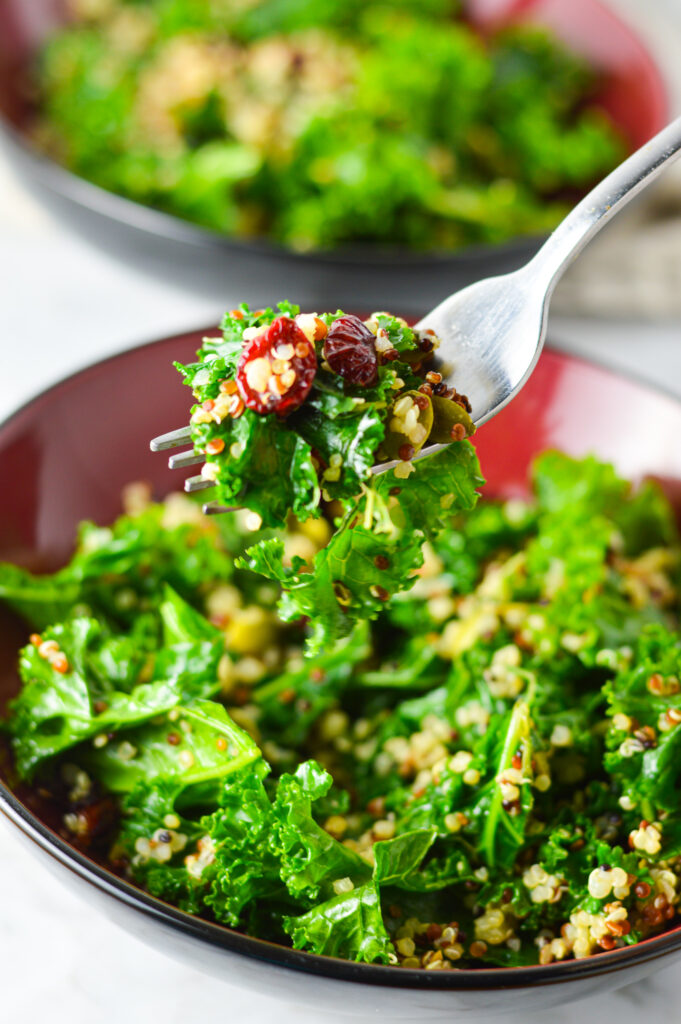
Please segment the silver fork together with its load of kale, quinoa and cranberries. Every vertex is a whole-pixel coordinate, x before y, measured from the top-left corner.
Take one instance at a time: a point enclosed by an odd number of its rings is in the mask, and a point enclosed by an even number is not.
[[[185,489],[214,490],[204,511],[247,505],[265,524],[309,512],[321,495],[348,498],[376,474],[407,478],[518,393],[566,267],[680,153],[681,118],[596,185],[525,266],[451,295],[414,328],[290,303],[231,310],[199,361],[178,366],[196,397],[189,424],[152,451],[191,444],[170,466],[202,465]]]

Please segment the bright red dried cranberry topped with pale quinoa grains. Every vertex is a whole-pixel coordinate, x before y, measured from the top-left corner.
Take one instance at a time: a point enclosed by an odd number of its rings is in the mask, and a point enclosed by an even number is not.
[[[314,345],[290,316],[278,316],[246,343],[237,365],[237,386],[254,413],[287,416],[303,403],[315,374]]]

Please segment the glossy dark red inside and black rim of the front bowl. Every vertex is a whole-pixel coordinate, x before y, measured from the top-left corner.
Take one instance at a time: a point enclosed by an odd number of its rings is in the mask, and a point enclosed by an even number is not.
[[[163,456],[150,453],[148,439],[183,422],[188,392],[171,360],[189,360],[205,334],[180,335],[89,367],[44,392],[0,426],[0,479],[10,483],[0,503],[0,560],[37,569],[54,568],[69,557],[81,519],[105,524],[119,514],[120,494],[126,483],[148,480],[157,498],[178,488],[181,474],[171,472]],[[525,495],[533,458],[555,446],[572,455],[594,453],[611,460],[634,480],[655,476],[681,508],[681,450],[676,441],[680,433],[681,402],[636,381],[548,350],[519,396],[482,428],[476,443],[490,480],[485,488],[490,496]],[[16,652],[28,632],[0,608],[0,707],[18,688]],[[0,757],[0,779],[2,761]],[[51,830],[55,823],[49,811],[41,809],[30,795],[16,797],[10,799],[0,781],[0,805],[9,805],[10,817],[23,822],[22,829],[34,838],[41,837],[37,842],[55,860],[71,866],[102,893],[118,897],[119,902],[152,913],[167,926],[166,931],[172,926],[218,949],[243,947],[248,956],[300,970],[393,983],[391,969],[327,963],[324,957],[271,947],[165,907],[71,852]],[[131,927],[137,926],[133,923]],[[565,963],[550,973],[565,978],[585,973],[595,976],[607,970],[605,961],[614,967],[615,962],[624,966],[633,958],[654,959],[676,948],[678,934],[677,929],[640,946],[595,957],[586,966],[584,962]],[[314,968],[320,959],[326,966]],[[525,979],[526,975],[528,981],[537,971],[547,970],[513,972],[515,983],[522,984],[520,977]],[[407,977],[413,974],[419,977]],[[471,972],[453,974],[457,977],[446,986],[444,979],[442,986],[484,987],[490,983],[503,987],[499,976],[506,976],[503,971],[485,971],[485,978],[490,977],[483,984],[469,978]],[[418,972],[405,972],[399,985],[419,987],[419,978]]]

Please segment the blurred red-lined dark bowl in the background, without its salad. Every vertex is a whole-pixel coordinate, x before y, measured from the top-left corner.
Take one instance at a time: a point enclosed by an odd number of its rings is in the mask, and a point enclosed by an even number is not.
[[[529,23],[549,29],[599,73],[596,97],[631,148],[665,123],[663,77],[645,46],[599,0],[468,0],[482,33]],[[304,306],[383,308],[418,314],[481,276],[522,264],[542,240],[522,238],[457,252],[349,247],[295,253],[196,226],[99,188],[40,154],[28,134],[35,115],[30,86],[44,40],[67,20],[62,0],[3,0],[0,5],[0,133],[22,179],[63,222],[120,258],[216,298],[228,290],[251,303],[271,294]]]

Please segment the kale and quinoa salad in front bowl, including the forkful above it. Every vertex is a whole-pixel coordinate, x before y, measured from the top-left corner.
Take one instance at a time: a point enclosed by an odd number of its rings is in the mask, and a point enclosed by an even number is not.
[[[180,369],[212,482],[245,507],[205,517],[132,484],[125,514],[84,523],[56,573],[0,566],[0,597],[33,631],[3,724],[16,783],[153,895],[313,953],[513,967],[669,927],[681,547],[662,492],[547,452],[530,500],[478,504],[459,430],[371,478],[394,407],[432,373],[421,335],[290,304],[223,327]],[[391,354],[370,373],[381,331]],[[355,358],[338,364],[349,338]],[[224,418],[197,416],[220,396]],[[434,397],[465,425],[462,396]],[[363,461],[332,463],[346,435]]]

